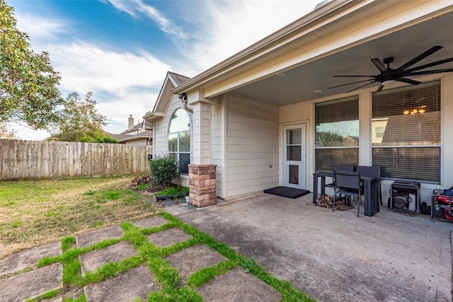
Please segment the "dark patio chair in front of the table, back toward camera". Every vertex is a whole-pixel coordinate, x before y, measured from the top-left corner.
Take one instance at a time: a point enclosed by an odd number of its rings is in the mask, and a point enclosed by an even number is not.
[[[348,171],[333,171],[335,177],[335,189],[333,194],[332,211],[335,209],[335,201],[341,194],[350,202],[351,197],[357,197],[357,217],[360,213],[360,173]]]

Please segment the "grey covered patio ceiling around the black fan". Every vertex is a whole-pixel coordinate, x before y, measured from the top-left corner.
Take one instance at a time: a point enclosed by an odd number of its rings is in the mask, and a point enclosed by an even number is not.
[[[357,74],[375,76],[379,74],[379,70],[370,61],[371,58],[376,57],[382,61],[386,57],[394,57],[394,62],[390,64],[390,67],[396,69],[435,45],[440,45],[444,48],[414,64],[411,68],[453,57],[451,28],[453,28],[453,12],[431,18],[428,21],[361,45],[350,47],[347,50],[331,54],[314,62],[285,70],[285,76],[268,76],[260,81],[236,88],[232,92],[275,105],[289,105],[346,93],[365,83],[331,89],[328,87],[353,81],[362,81],[368,78],[334,78],[333,76]],[[423,69],[423,71],[446,68],[453,68],[453,62],[433,66]],[[417,76],[411,76],[409,79],[417,79]],[[387,86],[384,90],[396,85]],[[404,85],[409,84],[404,83]],[[373,83],[364,88],[373,88],[373,91],[375,91],[378,86],[379,83]],[[319,90],[322,92],[314,93],[314,91]],[[354,93],[357,93],[357,91],[352,91],[348,95],[353,95]]]

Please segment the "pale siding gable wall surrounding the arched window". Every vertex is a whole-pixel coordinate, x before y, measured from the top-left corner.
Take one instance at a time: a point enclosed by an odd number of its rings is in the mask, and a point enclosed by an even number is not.
[[[183,103],[181,103],[178,95],[173,95],[168,103],[165,116],[154,123],[154,156],[163,156],[168,153],[168,122],[170,122],[173,112],[178,108],[183,108]],[[190,120],[192,120],[192,115],[190,115]],[[180,175],[178,184],[188,186],[188,175]]]

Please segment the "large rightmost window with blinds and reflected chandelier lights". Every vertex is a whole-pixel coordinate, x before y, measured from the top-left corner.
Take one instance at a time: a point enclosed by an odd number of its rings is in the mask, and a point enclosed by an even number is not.
[[[430,120],[435,122],[435,126],[432,127],[432,132],[434,133],[434,137],[430,141],[429,139],[423,139],[420,140],[415,140],[415,139],[410,139],[411,136],[414,136],[414,134],[418,132],[413,132],[411,134],[407,134],[406,137],[403,137],[398,141],[398,144],[396,142],[392,143],[392,139],[389,139],[388,143],[385,143],[381,141],[380,143],[370,141],[371,143],[371,148],[372,148],[372,164],[373,165],[381,165],[382,166],[382,178],[387,179],[387,180],[408,180],[408,181],[417,181],[417,182],[424,182],[424,183],[432,183],[432,184],[440,184],[441,182],[441,170],[442,170],[442,165],[441,165],[441,132],[442,132],[442,121],[440,120],[442,108],[441,108],[441,83],[440,81],[430,81],[426,83],[422,83],[419,86],[402,86],[398,88],[393,88],[389,89],[388,91],[382,91],[379,93],[372,93],[372,104],[371,104],[371,128],[372,130],[374,129],[373,127],[373,122],[378,121],[378,120],[383,120],[384,115],[379,115],[379,112],[381,109],[375,109],[374,106],[375,101],[381,101],[384,102],[384,100],[376,100],[375,97],[378,95],[389,95],[389,98],[394,98],[393,95],[406,95],[406,94],[416,94],[422,91],[422,89],[425,89],[428,91],[428,89],[432,89],[432,91],[428,92],[423,92],[426,94],[423,94],[423,96],[428,95],[428,93],[432,93],[432,100],[430,100],[431,103],[430,105],[434,105],[434,110],[431,112],[433,113],[432,116],[430,117]],[[392,95],[393,94],[393,95]],[[401,98],[401,96],[400,96]],[[418,96],[420,98],[420,96]],[[401,101],[403,101],[402,99]],[[386,110],[389,110],[389,115],[386,117],[387,120],[389,120],[392,116],[394,116],[394,111],[395,110],[400,110],[398,106],[401,107],[401,104],[399,102],[396,105],[393,105],[393,103],[389,102],[391,105],[388,106],[389,108]],[[428,106],[429,107],[429,106]],[[378,115],[376,115],[375,112],[378,112]],[[416,113],[415,113],[416,114]],[[425,114],[425,113],[423,113]],[[405,113],[401,111],[401,117]],[[421,115],[420,115],[421,116]],[[399,116],[396,116],[397,118]],[[400,117],[400,118],[401,118]],[[401,120],[402,120],[401,118]],[[414,118],[414,117],[412,117]],[[428,120],[425,118],[425,120]],[[430,121],[428,120],[428,122]],[[398,125],[399,123],[404,123],[401,121],[396,120],[394,122],[395,124]],[[387,125],[385,126],[387,127]],[[393,126],[395,127],[395,126]],[[408,128],[408,125],[404,126]],[[400,128],[403,128],[402,126]],[[426,129],[425,127],[419,126],[419,129]],[[417,129],[416,127],[412,127],[412,129]],[[387,130],[388,131],[388,130]],[[404,132],[403,130],[399,130],[403,134],[408,133]],[[424,130],[423,130],[424,131]],[[385,131],[384,131],[385,132]],[[424,134],[422,130],[419,130],[420,134],[418,134],[418,137],[426,137],[427,134]],[[399,132],[398,132],[399,133]],[[384,139],[383,134],[383,138]],[[396,136],[397,134],[391,134],[393,136]],[[381,140],[382,140],[381,139]],[[393,139],[395,140],[395,139]],[[425,149],[425,152],[423,151]],[[393,151],[392,151],[393,150]],[[394,156],[391,156],[391,153],[394,153]],[[379,156],[377,154],[379,153]],[[406,157],[402,157],[401,154],[406,154]],[[420,156],[425,155],[425,156]],[[393,163],[391,164],[385,164],[385,163]],[[404,175],[406,173],[406,175]]]

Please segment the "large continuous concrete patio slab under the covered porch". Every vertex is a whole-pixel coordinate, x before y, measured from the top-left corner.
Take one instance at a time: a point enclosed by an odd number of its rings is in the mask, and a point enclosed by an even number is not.
[[[453,223],[389,210],[315,207],[253,194],[197,209],[166,207],[318,301],[452,301]]]

